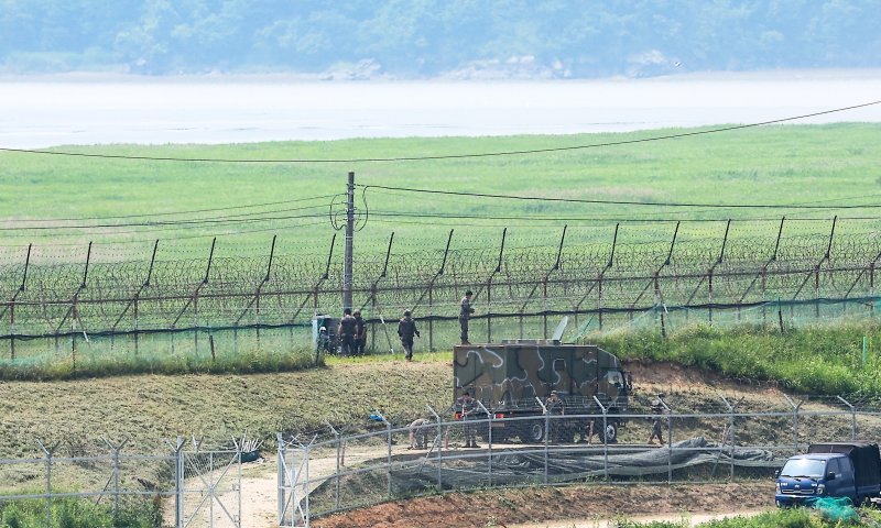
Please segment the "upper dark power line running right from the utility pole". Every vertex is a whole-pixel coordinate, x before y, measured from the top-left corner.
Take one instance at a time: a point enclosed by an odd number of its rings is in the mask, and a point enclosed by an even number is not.
[[[542,198],[535,196],[518,196],[518,195],[494,195],[490,193],[466,193],[457,190],[437,190],[437,189],[416,189],[410,187],[390,187],[384,185],[366,185],[362,186],[366,190],[371,188],[387,189],[387,190],[402,190],[409,193],[422,193],[429,195],[446,195],[446,196],[468,196],[475,198],[499,198],[507,200],[522,200],[522,201],[556,201],[566,204],[591,204],[591,205],[612,205],[612,206],[651,206],[651,207],[704,207],[708,209],[866,209],[878,208],[881,204],[867,204],[867,205],[850,205],[850,206],[812,206],[806,204],[794,205],[771,205],[771,204],[689,204],[689,202],[665,202],[665,201],[630,201],[630,200],[590,200],[583,198]]]

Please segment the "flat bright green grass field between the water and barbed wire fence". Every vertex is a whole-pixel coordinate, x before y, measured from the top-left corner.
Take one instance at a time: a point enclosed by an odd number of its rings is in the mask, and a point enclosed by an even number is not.
[[[346,190],[356,173],[357,207],[366,223],[356,252],[382,253],[392,231],[395,252],[442,250],[450,229],[453,248],[496,248],[502,228],[508,246],[555,245],[564,224],[567,244],[608,242],[624,222],[622,242],[668,240],[674,220],[717,220],[683,228],[681,238],[720,238],[725,219],[741,219],[738,233],[773,231],[782,216],[798,230],[873,231],[874,209],[814,210],[784,205],[871,202],[881,185],[881,125],[775,125],[662,141],[700,129],[624,134],[482,139],[348,140],[241,145],[107,145],[54,152],[175,158],[279,160],[273,163],[173,162],[0,153],[0,208],[6,228],[0,262],[20,263],[34,243],[46,262],[76,261],[95,242],[93,260],[205,258],[218,235],[215,257],[265,255],[273,234],[276,255],[326,255],[335,232],[331,195]],[[622,143],[608,146],[608,143]],[[536,154],[398,162],[333,160],[458,156],[572,148]],[[282,162],[305,160],[311,162]],[[623,204],[515,201],[426,195],[370,188],[388,186],[529,197],[690,202],[761,204],[770,208],[683,208]],[[294,201],[303,200],[303,201]],[[336,199],[339,201],[339,197]],[[269,205],[272,204],[272,205]],[[264,205],[261,207],[254,207]],[[339,212],[339,208],[333,209]],[[200,211],[181,213],[182,211]],[[369,211],[369,216],[366,212]],[[427,216],[427,217],[426,217]],[[108,218],[116,217],[116,218]],[[99,219],[100,220],[97,220]],[[861,220],[857,220],[860,218]],[[47,219],[76,219],[45,222]],[[94,220],[84,220],[94,219]],[[753,219],[753,221],[747,221]],[[35,220],[39,220],[35,222]],[[339,218],[337,217],[337,220]],[[666,222],[664,222],[666,221]],[[181,223],[193,222],[193,223]],[[28,228],[28,229],[25,229]],[[35,229],[39,228],[39,229]],[[341,240],[337,241],[341,248]]]

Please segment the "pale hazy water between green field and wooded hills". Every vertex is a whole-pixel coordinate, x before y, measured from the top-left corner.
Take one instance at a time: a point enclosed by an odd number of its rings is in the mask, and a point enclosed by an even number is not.
[[[0,147],[566,134],[753,123],[881,100],[881,70],[627,80],[0,78]],[[881,105],[795,121],[881,122]]]

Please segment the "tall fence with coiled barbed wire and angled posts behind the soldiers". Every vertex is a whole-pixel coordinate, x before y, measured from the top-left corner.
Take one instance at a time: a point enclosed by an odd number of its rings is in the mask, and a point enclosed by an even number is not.
[[[666,333],[697,321],[782,329],[872,317],[881,258],[875,223],[614,223],[542,237],[450,230],[434,249],[390,233],[388,246],[356,253],[352,304],[374,351],[395,348],[383,326],[407,309],[423,330],[422,349],[454,343],[466,289],[478,308],[471,332],[486,342],[547,338],[565,315],[575,321],[567,338],[633,326]],[[3,355],[76,362],[77,346],[176,355],[307,348],[313,317],[341,311],[340,244],[335,235],[324,240],[308,253],[279,253],[273,237],[264,256],[235,256],[222,238],[198,251],[177,244],[171,254],[162,240],[137,251],[97,243],[3,248]],[[324,253],[314,249],[322,245]]]

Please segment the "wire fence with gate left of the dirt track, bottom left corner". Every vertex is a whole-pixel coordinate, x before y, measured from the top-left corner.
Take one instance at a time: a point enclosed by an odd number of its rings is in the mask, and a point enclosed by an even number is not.
[[[113,526],[135,517],[175,528],[242,527],[241,464],[249,453],[241,446],[178,437],[162,446],[165,454],[143,454],[128,439],[100,440],[37,439],[34,457],[0,459],[0,508],[43,502],[46,528],[64,526],[59,510],[72,502]]]

